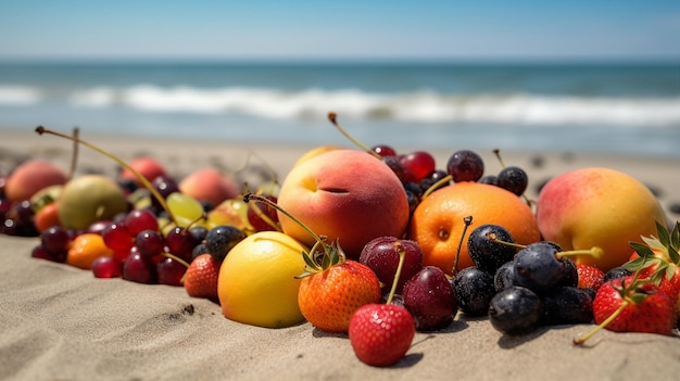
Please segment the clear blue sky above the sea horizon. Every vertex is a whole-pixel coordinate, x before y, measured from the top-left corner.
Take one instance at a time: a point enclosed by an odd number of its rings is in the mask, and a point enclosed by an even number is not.
[[[0,61],[167,59],[680,62],[680,1],[0,1]]]

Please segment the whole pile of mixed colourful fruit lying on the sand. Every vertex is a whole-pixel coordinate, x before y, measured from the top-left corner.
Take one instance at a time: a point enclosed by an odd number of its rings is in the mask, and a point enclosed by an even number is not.
[[[124,163],[37,131],[123,170],[71,178],[28,161],[1,178],[0,230],[39,237],[32,256],[184,287],[242,323],[347,333],[368,365],[399,361],[416,331],[458,314],[509,335],[677,328],[679,225],[668,229],[650,190],[620,172],[565,173],[532,201],[527,174],[498,152],[503,169],[488,175],[474,151],[438,168],[425,151],[355,141],[312,150],[280,186],[249,190],[217,170],[178,181],[151,157]]]

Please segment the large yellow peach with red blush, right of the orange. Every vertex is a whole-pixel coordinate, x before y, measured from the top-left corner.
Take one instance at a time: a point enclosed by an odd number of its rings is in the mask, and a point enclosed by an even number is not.
[[[604,167],[574,169],[547,181],[539,193],[537,221],[543,238],[564,250],[601,247],[601,258],[579,255],[576,261],[603,271],[628,261],[629,241],[656,236],[655,221],[667,225],[645,185]]]

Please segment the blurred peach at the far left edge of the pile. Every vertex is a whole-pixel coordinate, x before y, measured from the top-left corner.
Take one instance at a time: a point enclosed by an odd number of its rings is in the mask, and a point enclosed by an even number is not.
[[[29,160],[20,164],[4,186],[4,194],[10,201],[24,201],[41,189],[64,185],[68,180],[66,173],[56,165],[42,161]]]

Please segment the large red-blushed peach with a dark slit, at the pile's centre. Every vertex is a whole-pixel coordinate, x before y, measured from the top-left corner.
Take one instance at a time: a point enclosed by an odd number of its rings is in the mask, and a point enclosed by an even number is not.
[[[396,175],[358,150],[331,150],[294,166],[281,183],[278,204],[328,242],[338,239],[353,258],[376,237],[402,237],[408,224],[408,200]],[[279,221],[285,233],[314,244],[282,213]]]

